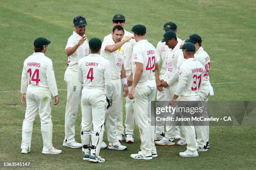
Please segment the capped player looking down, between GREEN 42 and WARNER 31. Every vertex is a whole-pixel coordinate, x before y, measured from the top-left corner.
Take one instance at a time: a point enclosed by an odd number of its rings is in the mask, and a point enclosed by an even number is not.
[[[178,65],[181,65],[185,61],[185,59],[183,57],[182,50],[179,49],[179,45],[182,41],[177,40],[177,35],[174,31],[168,31],[164,33],[164,39],[162,40],[162,42],[165,42],[168,48],[172,49],[166,54],[167,68],[164,76],[161,79],[163,87],[166,87],[164,93],[164,100],[169,101],[174,96],[178,81],[174,82],[173,85],[167,84],[166,81],[169,80],[176,73]],[[159,141],[156,141],[156,145],[175,145],[174,139],[178,130],[179,129],[177,129],[176,126],[166,126],[165,137]],[[177,140],[179,139],[177,145],[186,145],[184,134],[182,133],[182,131],[180,133],[182,134],[183,138],[181,139],[180,136],[179,138],[176,138]]]

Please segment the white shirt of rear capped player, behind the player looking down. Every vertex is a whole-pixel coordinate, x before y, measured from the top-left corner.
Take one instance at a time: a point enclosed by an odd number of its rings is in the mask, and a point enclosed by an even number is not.
[[[178,42],[182,42],[181,39],[179,39],[177,37]],[[164,74],[167,70],[167,60],[168,60],[168,56],[166,54],[168,54],[168,52],[172,51],[172,48],[169,48],[168,45],[165,45],[165,42],[161,42],[159,41],[156,45],[156,52],[159,56],[159,65],[160,62],[162,62],[162,67],[161,67],[161,71],[160,74]]]

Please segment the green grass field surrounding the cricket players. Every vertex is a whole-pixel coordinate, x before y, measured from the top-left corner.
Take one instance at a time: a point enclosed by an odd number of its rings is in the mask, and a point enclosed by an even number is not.
[[[125,15],[125,30],[143,24],[153,45],[163,37],[163,25],[173,21],[181,39],[193,33],[202,37],[202,46],[211,57],[210,81],[215,101],[255,100],[256,97],[256,3],[253,0],[130,0],[73,2],[68,0],[0,0],[0,161],[31,161],[32,169],[255,169],[255,126],[210,127],[211,148],[198,158],[181,158],[185,146],[159,147],[158,158],[133,160],[140,146],[138,129],[135,143],[127,151],[101,150],[105,163],[82,160],[81,149],[62,147],[67,91],[59,91],[61,102],[52,108],[53,145],[60,155],[43,155],[40,120],[33,126],[31,153],[20,153],[22,122],[26,105],[20,104],[20,77],[23,61],[33,53],[33,40],[51,40],[46,52],[54,64],[58,89],[66,89],[65,46],[73,31],[73,18],[84,15],[89,39],[103,37],[112,30],[112,17]],[[254,49],[254,50],[253,50]],[[12,92],[6,92],[12,91]],[[77,118],[76,140],[80,140],[81,111]],[[105,133],[106,135],[106,133]],[[105,136],[105,141],[106,141]],[[126,145],[126,144],[124,144]]]

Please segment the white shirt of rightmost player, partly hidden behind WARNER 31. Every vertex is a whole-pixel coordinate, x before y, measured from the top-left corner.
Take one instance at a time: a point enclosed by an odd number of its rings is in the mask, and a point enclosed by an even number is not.
[[[195,58],[205,67],[204,76],[202,77],[202,85],[210,84],[210,57],[203,47],[200,47],[195,53]]]

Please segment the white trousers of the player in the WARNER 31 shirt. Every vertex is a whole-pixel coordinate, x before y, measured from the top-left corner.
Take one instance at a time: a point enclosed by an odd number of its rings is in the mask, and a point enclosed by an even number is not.
[[[200,101],[199,95],[197,96],[180,96],[180,101]],[[194,126],[180,126],[182,128],[187,140],[187,152],[190,154],[197,154],[197,141]]]

